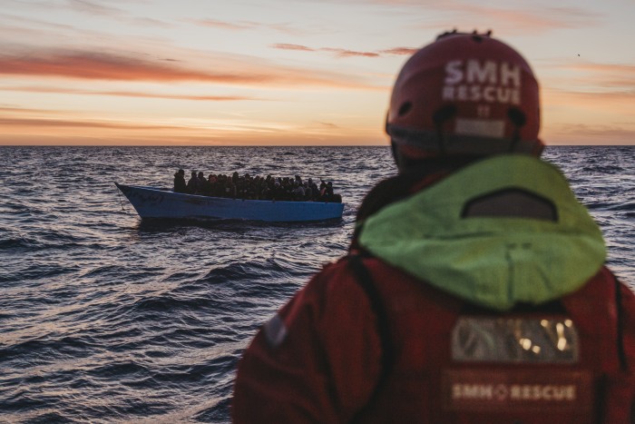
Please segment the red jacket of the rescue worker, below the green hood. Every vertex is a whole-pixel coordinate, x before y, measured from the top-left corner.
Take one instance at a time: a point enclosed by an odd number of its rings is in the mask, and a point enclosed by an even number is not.
[[[371,192],[362,219],[403,180]],[[357,247],[252,341],[235,422],[632,422],[635,295],[611,271],[495,311]]]

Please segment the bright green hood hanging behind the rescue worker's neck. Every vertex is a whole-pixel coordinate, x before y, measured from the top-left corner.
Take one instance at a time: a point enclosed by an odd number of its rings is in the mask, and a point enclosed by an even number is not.
[[[470,200],[510,188],[551,201],[557,222],[462,218]],[[362,225],[359,244],[367,251],[443,291],[501,311],[577,290],[606,258],[600,229],[562,173],[524,155],[474,163]]]

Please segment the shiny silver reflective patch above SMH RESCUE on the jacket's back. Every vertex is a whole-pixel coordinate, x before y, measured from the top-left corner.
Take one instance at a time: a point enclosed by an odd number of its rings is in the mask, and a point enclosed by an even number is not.
[[[568,318],[462,316],[452,330],[452,359],[464,362],[575,363],[579,338]]]

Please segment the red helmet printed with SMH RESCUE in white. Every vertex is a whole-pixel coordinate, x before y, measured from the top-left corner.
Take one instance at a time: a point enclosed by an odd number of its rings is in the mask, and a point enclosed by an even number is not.
[[[542,153],[532,69],[490,34],[439,35],[405,63],[386,117],[386,133],[399,153]]]

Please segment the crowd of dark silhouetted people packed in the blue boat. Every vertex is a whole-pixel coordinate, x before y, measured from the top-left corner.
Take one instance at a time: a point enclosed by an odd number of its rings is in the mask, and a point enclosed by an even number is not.
[[[263,178],[249,173],[231,175],[210,173],[208,178],[202,172],[191,172],[185,183],[185,172],[181,169],[174,174],[174,192],[186,192],[213,197],[230,197],[244,200],[273,200],[291,202],[342,202],[342,196],[333,191],[333,182],[320,180],[320,185],[308,178],[303,181],[295,177]]]

